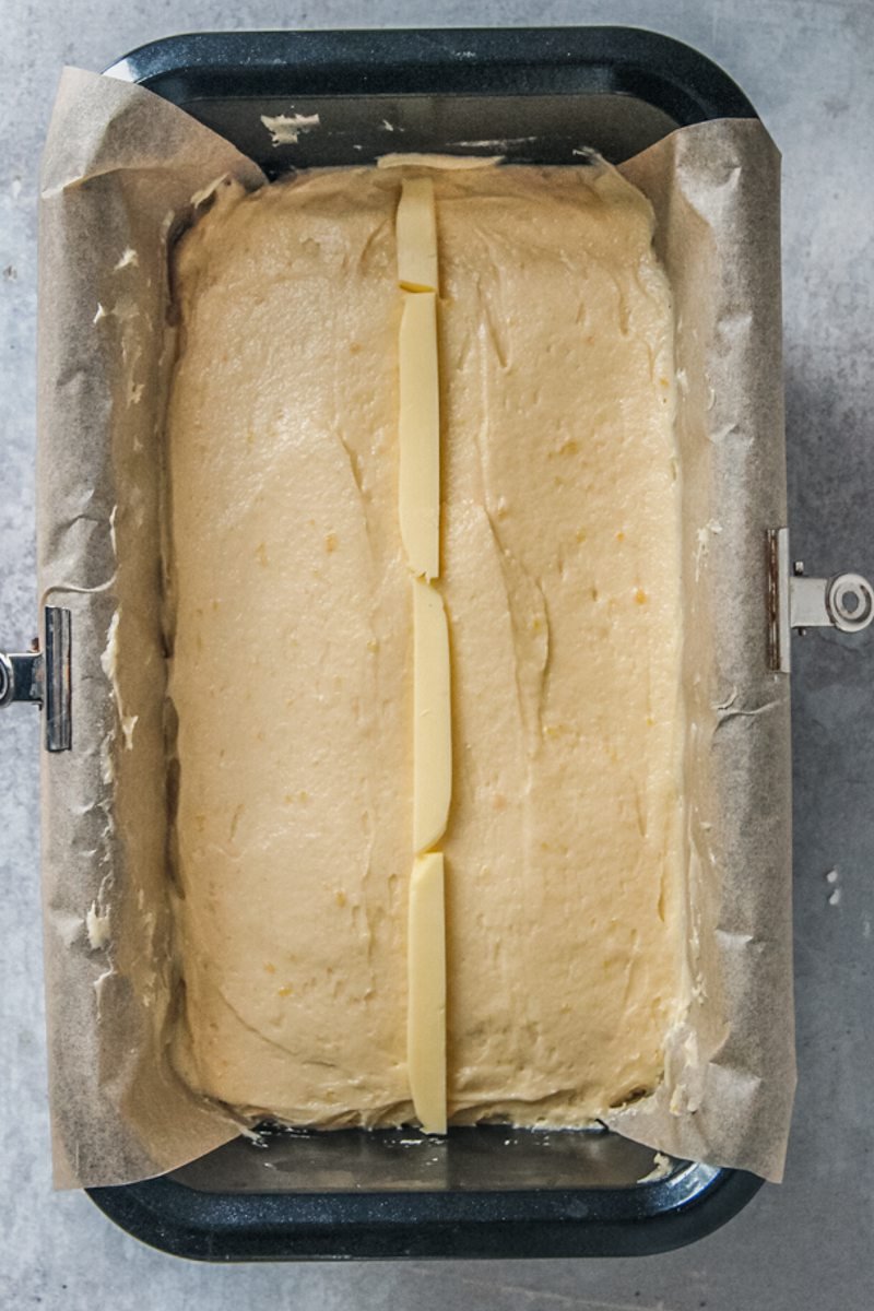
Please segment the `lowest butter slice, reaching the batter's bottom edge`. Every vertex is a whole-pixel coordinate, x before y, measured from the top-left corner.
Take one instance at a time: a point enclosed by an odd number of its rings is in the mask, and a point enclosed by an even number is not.
[[[446,1133],[446,910],[442,852],[417,856],[410,876],[406,1061],[426,1134]]]

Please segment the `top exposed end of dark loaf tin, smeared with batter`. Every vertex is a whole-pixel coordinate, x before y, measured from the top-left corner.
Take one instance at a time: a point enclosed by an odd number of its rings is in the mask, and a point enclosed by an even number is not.
[[[704,55],[633,28],[197,33],[107,72],[180,105],[271,177],[397,149],[571,164],[595,146],[616,163],[675,127],[756,117]],[[274,147],[261,118],[290,105],[317,113],[318,131]]]

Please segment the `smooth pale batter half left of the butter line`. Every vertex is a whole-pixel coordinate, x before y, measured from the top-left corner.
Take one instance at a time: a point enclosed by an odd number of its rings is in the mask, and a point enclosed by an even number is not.
[[[409,1112],[396,202],[231,193],[177,266],[177,1058],[296,1124]]]

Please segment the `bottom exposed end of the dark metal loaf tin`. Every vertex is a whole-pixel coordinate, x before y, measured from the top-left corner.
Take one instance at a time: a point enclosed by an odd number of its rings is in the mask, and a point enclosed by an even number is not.
[[[208,1261],[646,1256],[713,1232],[760,1185],[609,1133],[499,1125],[245,1139],[164,1179],[90,1190],[122,1228]]]

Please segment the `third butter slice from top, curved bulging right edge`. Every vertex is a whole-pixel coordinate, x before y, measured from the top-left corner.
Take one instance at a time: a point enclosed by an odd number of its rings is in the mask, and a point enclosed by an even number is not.
[[[452,793],[449,633],[440,593],[413,579],[413,848],[446,830]]]

